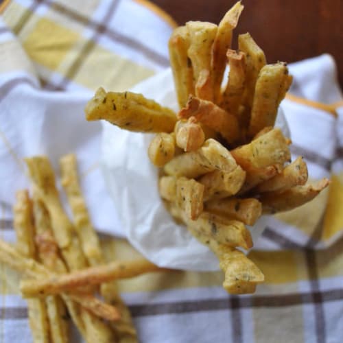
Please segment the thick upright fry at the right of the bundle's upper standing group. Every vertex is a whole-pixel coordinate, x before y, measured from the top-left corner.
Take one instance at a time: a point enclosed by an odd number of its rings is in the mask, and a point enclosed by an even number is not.
[[[251,137],[265,126],[274,126],[279,104],[288,89],[285,86],[288,80],[287,65],[283,62],[267,64],[259,72],[248,129]]]

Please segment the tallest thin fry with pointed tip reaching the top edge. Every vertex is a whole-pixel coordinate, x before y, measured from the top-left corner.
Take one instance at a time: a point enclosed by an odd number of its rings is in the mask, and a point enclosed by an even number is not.
[[[226,51],[231,47],[231,40],[233,36],[233,29],[237,26],[239,16],[244,6],[241,1],[233,5],[220,21],[215,35],[212,48],[211,67],[213,73],[213,92],[214,101],[217,101],[220,96],[220,86],[222,85],[223,74],[226,67]]]

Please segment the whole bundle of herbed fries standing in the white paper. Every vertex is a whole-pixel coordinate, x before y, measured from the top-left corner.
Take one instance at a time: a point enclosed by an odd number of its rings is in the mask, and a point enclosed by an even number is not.
[[[161,168],[161,198],[171,215],[215,252],[224,288],[232,294],[255,292],[264,280],[241,252],[252,248],[246,225],[253,226],[261,214],[305,204],[329,184],[327,179],[306,184],[305,161],[291,162],[291,141],[274,128],[292,83],[287,64],[267,64],[248,33],[238,36],[239,49],[230,49],[243,8],[237,2],[219,25],[190,21],[174,30],[169,56],[177,114],[143,95],[103,88],[86,105],[87,120],[156,132],[148,155]]]

